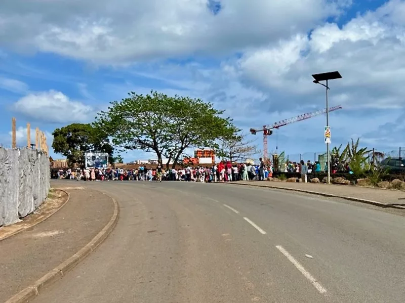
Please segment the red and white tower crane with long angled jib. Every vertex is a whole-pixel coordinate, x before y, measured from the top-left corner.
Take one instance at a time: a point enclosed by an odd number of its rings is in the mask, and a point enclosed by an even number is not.
[[[340,105],[338,106],[334,106],[334,107],[330,107],[329,111],[335,111],[338,109],[342,109],[342,107]],[[325,114],[327,112],[327,109],[321,109],[318,111],[314,111],[312,113],[306,113],[306,114],[302,114],[290,119],[285,119],[285,120],[281,120],[278,122],[275,122],[273,124],[269,124],[269,125],[263,125],[262,129],[256,129],[256,128],[251,128],[249,131],[252,133],[252,135],[256,135],[256,133],[258,132],[263,132],[263,158],[267,159],[268,158],[268,151],[267,151],[267,136],[271,136],[273,134],[273,129],[278,129],[281,126],[290,124],[290,123],[294,123],[294,122],[298,122],[298,121],[302,121],[302,120],[306,120],[315,116],[319,116],[321,114]]]

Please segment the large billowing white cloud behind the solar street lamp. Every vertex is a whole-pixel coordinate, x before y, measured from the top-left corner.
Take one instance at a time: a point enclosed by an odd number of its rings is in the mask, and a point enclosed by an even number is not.
[[[403,16],[403,19],[399,18]],[[313,106],[325,98],[311,74],[339,70],[330,83],[334,104],[346,108],[405,107],[405,2],[392,0],[339,28],[325,24],[310,37],[293,35],[278,45],[253,50],[236,64],[240,78],[267,94],[284,96],[274,108]]]

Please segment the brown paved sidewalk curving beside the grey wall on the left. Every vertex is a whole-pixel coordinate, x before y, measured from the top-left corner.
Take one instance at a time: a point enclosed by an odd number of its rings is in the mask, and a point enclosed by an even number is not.
[[[70,200],[49,219],[0,241],[0,302],[66,261],[110,221],[111,198],[89,189],[67,192]]]

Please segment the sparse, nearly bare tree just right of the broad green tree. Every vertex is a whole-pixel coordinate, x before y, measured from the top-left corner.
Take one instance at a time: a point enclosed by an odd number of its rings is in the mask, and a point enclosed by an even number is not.
[[[220,138],[216,155],[222,160],[233,162],[244,162],[260,151],[253,144],[254,140],[247,140],[245,134],[235,133],[232,137]]]

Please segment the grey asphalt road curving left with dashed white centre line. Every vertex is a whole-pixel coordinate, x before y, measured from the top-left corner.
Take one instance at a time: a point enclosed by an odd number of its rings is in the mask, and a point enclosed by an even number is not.
[[[86,186],[117,199],[118,224],[35,303],[405,301],[399,215],[237,185]]]

